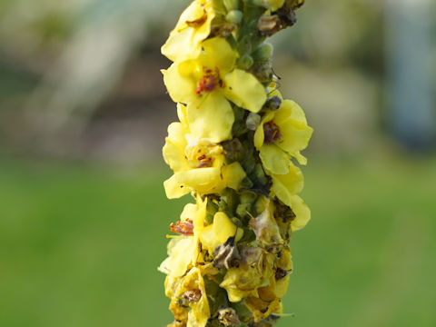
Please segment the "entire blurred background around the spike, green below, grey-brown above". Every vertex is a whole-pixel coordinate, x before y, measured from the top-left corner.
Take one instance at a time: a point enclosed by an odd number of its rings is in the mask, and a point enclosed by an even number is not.
[[[0,1],[0,326],[163,326],[159,53],[186,0]],[[436,4],[309,0],[272,37],[315,129],[279,326],[435,326]]]

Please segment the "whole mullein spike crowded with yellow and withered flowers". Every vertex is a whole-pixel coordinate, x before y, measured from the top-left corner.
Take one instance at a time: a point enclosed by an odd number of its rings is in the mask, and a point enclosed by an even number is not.
[[[266,37],[295,23],[302,0],[194,0],[162,47],[179,122],[163,158],[168,198],[191,193],[168,257],[173,327],[272,326],[292,272],[292,233],[310,219],[294,162],[312,136],[282,98]]]

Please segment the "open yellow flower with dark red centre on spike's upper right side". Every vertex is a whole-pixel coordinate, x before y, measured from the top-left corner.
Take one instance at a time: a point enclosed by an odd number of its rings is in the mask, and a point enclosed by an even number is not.
[[[306,148],[312,132],[302,108],[291,100],[284,100],[277,111],[263,116],[254,134],[254,145],[268,171],[285,174],[290,156],[301,164],[307,163],[300,151]]]

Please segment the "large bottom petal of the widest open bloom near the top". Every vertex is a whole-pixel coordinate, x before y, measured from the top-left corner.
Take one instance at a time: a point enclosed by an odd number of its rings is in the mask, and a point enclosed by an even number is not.
[[[187,121],[196,139],[206,138],[220,143],[232,138],[234,122],[232,106],[220,92],[204,94],[202,102],[188,104]]]

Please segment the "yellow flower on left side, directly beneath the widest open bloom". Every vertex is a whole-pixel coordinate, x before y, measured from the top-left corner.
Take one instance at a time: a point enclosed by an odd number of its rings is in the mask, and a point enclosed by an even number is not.
[[[196,191],[218,193],[225,187],[237,189],[245,177],[240,163],[225,164],[223,147],[209,139],[195,139],[179,106],[182,123],[168,127],[163,158],[173,169],[173,176],[163,183],[168,198],[179,198]]]

